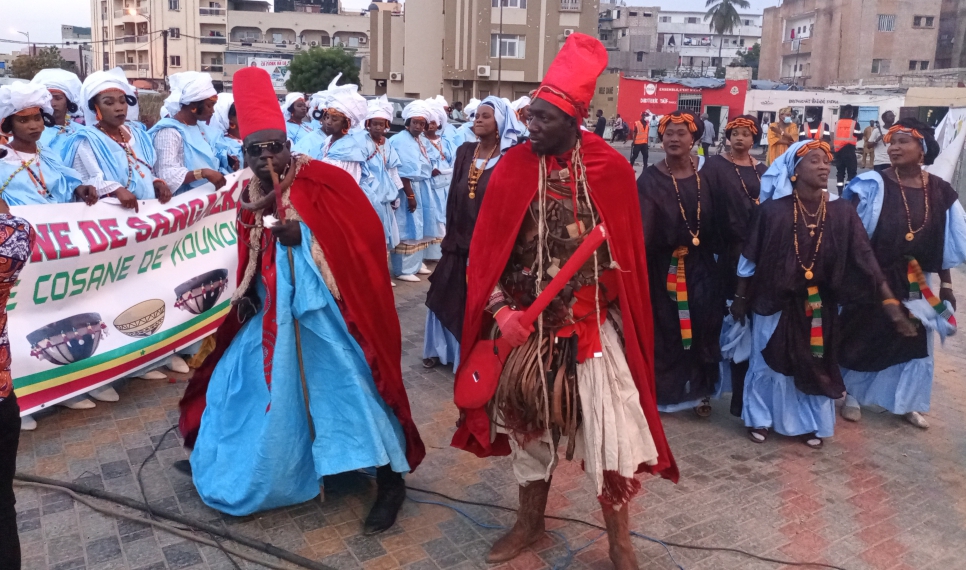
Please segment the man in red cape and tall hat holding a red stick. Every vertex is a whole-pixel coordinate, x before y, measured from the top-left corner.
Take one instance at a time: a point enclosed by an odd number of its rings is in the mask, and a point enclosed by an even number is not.
[[[577,440],[568,441],[568,458],[582,459],[597,486],[618,569],[637,568],[626,508],[640,489],[635,473],[678,478],[655,403],[634,171],[603,139],[579,128],[606,64],[599,41],[579,33],[567,38],[530,106],[530,142],[497,164],[470,245],[456,393],[459,403],[460,394],[486,392],[471,399],[487,404],[460,410],[452,445],[480,457],[512,455],[520,484],[516,524],[493,545],[491,563],[514,558],[542,537],[564,438]],[[541,313],[535,331],[523,321],[523,309],[597,224],[606,229],[606,244]],[[493,320],[518,348],[509,353],[498,387],[487,390],[468,367]],[[575,392],[579,422],[567,421],[577,417],[565,404]]]

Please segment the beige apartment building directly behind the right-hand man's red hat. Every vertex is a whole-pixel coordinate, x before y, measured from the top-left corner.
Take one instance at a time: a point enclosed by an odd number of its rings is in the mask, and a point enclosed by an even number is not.
[[[596,0],[373,2],[369,71],[377,94],[514,99],[540,85],[567,36],[596,35],[597,19]]]

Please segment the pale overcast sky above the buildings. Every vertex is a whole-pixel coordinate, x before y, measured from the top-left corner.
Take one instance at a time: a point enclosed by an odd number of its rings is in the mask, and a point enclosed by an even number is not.
[[[34,42],[59,42],[60,25],[91,25],[90,0],[2,0],[3,18],[0,40],[26,41],[18,31],[28,32]],[[776,6],[779,0],[749,0],[752,11]],[[343,9],[362,9],[370,0],[342,0]],[[705,0],[625,0],[634,6],[662,6],[671,10],[704,10]],[[53,16],[52,16],[53,15]],[[0,53],[10,53],[23,46],[0,43]]]

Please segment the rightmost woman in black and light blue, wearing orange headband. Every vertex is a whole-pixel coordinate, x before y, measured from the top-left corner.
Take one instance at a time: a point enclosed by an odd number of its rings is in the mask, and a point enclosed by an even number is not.
[[[849,395],[842,417],[859,421],[860,405],[878,405],[926,429],[922,414],[929,411],[932,394],[932,330],[949,334],[955,328],[950,270],[966,262],[966,222],[956,191],[922,169],[939,155],[932,129],[902,119],[883,141],[890,145],[892,166],[854,179],[842,197],[858,208],[889,286],[910,309],[919,305],[922,310],[915,315],[916,336],[906,338],[885,326],[888,315],[875,303],[863,299],[844,308],[842,373]],[[928,280],[930,274],[938,274],[938,280]],[[924,322],[931,323],[929,329]]]

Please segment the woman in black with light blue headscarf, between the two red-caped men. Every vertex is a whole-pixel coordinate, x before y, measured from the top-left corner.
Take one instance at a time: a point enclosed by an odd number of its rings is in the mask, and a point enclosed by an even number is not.
[[[466,262],[476,216],[486,194],[493,167],[516,144],[523,126],[513,110],[499,97],[490,96],[480,103],[473,122],[477,142],[467,142],[456,150],[453,180],[446,202],[446,237],[443,255],[429,278],[426,294],[426,331],[423,337],[423,366],[438,363],[459,366],[459,339],[463,332],[466,306]]]

